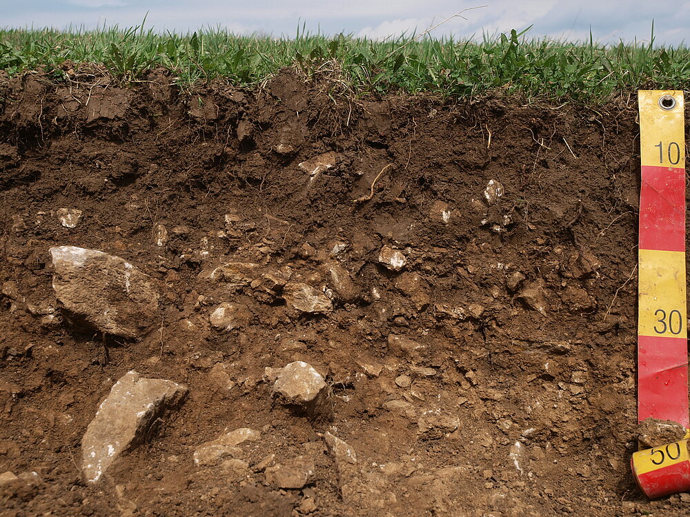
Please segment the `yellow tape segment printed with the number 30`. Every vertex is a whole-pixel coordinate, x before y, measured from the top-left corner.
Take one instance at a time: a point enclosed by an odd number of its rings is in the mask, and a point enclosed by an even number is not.
[[[685,254],[639,250],[638,335],[687,338]]]

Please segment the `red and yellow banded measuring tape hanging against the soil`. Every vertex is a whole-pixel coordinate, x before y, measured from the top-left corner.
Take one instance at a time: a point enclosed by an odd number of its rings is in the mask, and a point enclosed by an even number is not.
[[[683,101],[682,91],[638,92],[642,165],[638,420],[673,420],[688,429]],[[650,497],[690,489],[686,443],[664,447],[633,454],[633,474]],[[676,471],[684,473],[679,474],[684,480]]]

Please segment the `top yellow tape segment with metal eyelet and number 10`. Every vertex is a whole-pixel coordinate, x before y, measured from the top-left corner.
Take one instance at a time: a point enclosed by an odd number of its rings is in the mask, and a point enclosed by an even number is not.
[[[664,110],[660,106],[660,99],[664,95],[669,95],[676,102],[672,110]],[[682,90],[642,90],[638,92],[638,102],[640,128],[644,128],[644,131],[640,131],[642,165],[685,168]]]

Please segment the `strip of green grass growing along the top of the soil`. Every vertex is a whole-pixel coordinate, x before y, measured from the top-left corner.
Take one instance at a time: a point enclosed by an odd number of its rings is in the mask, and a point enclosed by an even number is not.
[[[355,95],[431,92],[471,97],[507,90],[528,98],[605,101],[639,88],[690,88],[690,49],[651,43],[600,45],[527,39],[515,30],[482,41],[400,37],[388,41],[297,32],[294,39],[235,36],[208,28],[159,34],[135,28],[0,30],[0,69],[42,69],[65,78],[63,63],[104,65],[130,82],[163,67],[186,88],[225,79],[253,87],[280,68],[297,66]],[[652,29],[653,34],[653,29]]]

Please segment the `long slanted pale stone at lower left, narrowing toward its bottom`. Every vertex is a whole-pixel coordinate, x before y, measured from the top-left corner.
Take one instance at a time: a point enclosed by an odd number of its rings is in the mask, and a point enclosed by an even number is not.
[[[179,405],[187,394],[185,385],[137,372],[122,376],[98,407],[81,440],[82,470],[89,483],[122,452],[143,443],[155,431],[159,419]]]

